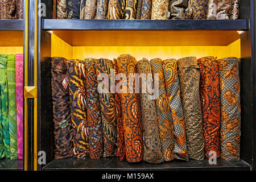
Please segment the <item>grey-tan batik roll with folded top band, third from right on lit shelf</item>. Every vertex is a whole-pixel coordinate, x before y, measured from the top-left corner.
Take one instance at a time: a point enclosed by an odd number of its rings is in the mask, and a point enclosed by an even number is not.
[[[184,110],[188,157],[204,159],[204,133],[199,93],[200,70],[196,57],[177,60]]]

